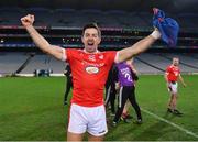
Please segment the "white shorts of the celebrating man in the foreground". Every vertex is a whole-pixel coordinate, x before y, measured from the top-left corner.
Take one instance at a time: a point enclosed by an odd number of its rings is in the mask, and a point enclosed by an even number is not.
[[[81,134],[86,131],[95,136],[101,136],[108,132],[103,105],[81,107],[72,103],[68,132]]]

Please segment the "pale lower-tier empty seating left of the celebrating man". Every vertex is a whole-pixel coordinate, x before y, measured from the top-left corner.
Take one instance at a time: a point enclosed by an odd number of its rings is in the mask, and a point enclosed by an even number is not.
[[[12,75],[25,62],[29,53],[1,53],[0,74]],[[33,74],[35,69],[52,69],[54,74],[63,74],[64,62],[45,54],[36,54],[20,74]]]

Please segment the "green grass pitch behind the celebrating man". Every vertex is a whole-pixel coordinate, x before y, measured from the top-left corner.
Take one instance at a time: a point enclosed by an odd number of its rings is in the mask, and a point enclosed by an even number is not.
[[[198,141],[198,76],[187,75],[184,79],[188,86],[179,84],[178,99],[184,116],[176,117],[166,113],[169,96],[164,77],[140,76],[136,98],[143,124],[121,121],[113,128],[108,114],[106,141]],[[64,77],[0,78],[0,141],[65,141],[65,84]],[[130,113],[135,118],[133,109]]]

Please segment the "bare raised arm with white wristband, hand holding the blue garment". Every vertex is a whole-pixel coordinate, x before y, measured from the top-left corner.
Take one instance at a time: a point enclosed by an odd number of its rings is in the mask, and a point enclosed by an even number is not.
[[[146,51],[157,39],[161,37],[161,33],[155,30],[151,35],[144,37],[138,43],[133,44],[130,47],[123,48],[119,51],[117,63],[127,61],[144,51]]]

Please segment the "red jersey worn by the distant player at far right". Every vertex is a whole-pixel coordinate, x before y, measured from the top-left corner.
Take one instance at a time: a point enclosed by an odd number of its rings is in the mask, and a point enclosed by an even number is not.
[[[177,81],[180,69],[178,66],[170,65],[166,68],[166,74],[168,81]]]

